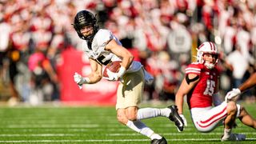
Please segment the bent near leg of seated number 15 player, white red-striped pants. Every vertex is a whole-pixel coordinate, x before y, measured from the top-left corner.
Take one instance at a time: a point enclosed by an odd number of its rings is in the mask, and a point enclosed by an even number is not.
[[[224,121],[222,141],[245,140],[245,135],[231,133],[234,120],[240,114],[240,106],[235,102],[222,102],[219,106],[208,108],[192,108],[190,112],[198,131],[210,132]]]

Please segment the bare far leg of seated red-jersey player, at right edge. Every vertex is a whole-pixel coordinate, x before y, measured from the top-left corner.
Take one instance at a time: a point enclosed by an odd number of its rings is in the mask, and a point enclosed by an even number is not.
[[[241,106],[241,113],[238,116],[238,118],[246,126],[250,126],[256,129],[256,120],[252,118],[252,116],[246,111],[246,109],[243,106]]]

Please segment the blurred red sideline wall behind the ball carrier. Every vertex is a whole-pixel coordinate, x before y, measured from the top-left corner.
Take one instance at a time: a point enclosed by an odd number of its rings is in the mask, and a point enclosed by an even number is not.
[[[74,72],[86,76],[90,73],[90,62],[82,51],[72,48],[62,52],[57,65],[60,81],[60,99],[62,102],[76,102],[88,105],[114,105],[118,82],[101,82],[83,85],[82,90],[73,80]]]

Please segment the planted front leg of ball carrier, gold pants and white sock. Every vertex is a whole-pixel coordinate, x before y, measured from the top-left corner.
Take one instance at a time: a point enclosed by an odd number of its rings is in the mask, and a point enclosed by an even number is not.
[[[117,112],[118,121],[128,126],[130,129],[150,138],[152,142],[167,143],[166,139],[155,134],[148,126],[139,121],[138,104],[142,100],[142,90],[144,86],[143,71],[126,74],[123,77],[124,82],[118,86]],[[155,139],[155,140],[154,140]]]

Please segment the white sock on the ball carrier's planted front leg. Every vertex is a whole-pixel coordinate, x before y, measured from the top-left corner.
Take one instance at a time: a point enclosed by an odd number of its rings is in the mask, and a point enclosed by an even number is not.
[[[150,139],[161,139],[162,137],[159,134],[154,134],[154,131],[147,127],[143,122],[140,121],[128,121],[126,126],[130,129],[137,131],[140,134],[146,135]]]

